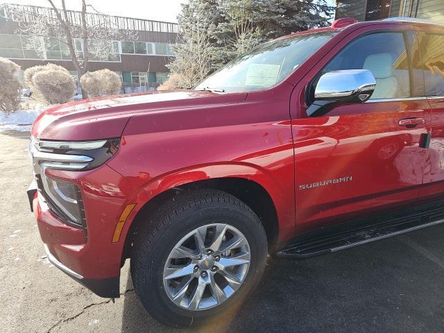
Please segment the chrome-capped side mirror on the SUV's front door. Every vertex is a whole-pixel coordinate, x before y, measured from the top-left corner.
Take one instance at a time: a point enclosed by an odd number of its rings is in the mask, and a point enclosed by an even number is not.
[[[323,115],[336,103],[364,103],[370,99],[375,87],[375,76],[367,69],[329,71],[319,78],[314,102],[307,109],[307,115]]]

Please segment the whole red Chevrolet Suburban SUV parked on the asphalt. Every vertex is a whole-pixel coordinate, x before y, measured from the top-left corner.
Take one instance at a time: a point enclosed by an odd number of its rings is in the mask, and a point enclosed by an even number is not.
[[[267,42],[197,87],[58,105],[28,191],[49,260],[162,323],[229,310],[267,253],[304,258],[444,221],[444,27],[355,23]]]

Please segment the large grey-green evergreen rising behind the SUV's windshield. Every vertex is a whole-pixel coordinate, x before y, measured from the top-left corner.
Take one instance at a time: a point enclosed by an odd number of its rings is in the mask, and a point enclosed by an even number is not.
[[[189,0],[178,16],[182,44],[169,65],[192,87],[254,46],[289,33],[327,26],[325,0]],[[195,75],[194,75],[195,74]]]

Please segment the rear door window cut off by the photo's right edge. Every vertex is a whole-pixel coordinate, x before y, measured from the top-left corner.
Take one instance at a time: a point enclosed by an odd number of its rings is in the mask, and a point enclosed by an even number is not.
[[[426,96],[444,96],[444,35],[420,34]]]

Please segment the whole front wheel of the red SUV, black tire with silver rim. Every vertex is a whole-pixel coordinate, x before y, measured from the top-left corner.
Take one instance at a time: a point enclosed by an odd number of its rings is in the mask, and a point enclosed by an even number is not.
[[[131,276],[142,305],[160,323],[199,325],[209,316],[238,307],[259,284],[267,257],[265,230],[250,207],[234,196],[212,189],[185,192],[161,205],[150,219],[154,223],[145,223],[151,227],[135,240]],[[205,239],[205,250],[199,251],[198,234],[205,234],[200,238]],[[239,247],[232,248],[237,243]],[[183,258],[176,250],[180,244],[186,249]],[[211,253],[210,246],[219,248]],[[187,273],[191,266],[194,269],[185,277],[171,278],[175,275],[170,272],[178,267],[173,265],[185,267],[182,271]],[[188,287],[183,287],[187,282]],[[176,290],[185,288],[173,302]]]

